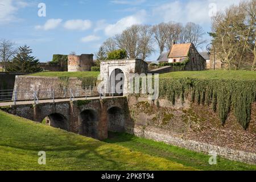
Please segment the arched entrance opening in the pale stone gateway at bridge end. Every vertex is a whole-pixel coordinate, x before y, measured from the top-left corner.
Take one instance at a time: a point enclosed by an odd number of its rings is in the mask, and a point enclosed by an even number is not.
[[[109,93],[122,95],[124,85],[125,85],[125,74],[121,69],[114,69],[114,71],[110,75]]]

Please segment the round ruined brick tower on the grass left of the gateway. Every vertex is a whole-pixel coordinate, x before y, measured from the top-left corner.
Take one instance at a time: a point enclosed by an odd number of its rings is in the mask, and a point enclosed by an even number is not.
[[[93,66],[93,55],[68,55],[68,72],[90,71]]]

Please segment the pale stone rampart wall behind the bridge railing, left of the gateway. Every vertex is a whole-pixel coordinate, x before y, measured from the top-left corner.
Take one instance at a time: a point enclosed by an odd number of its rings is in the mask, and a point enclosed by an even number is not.
[[[85,90],[82,80],[76,77],[17,76],[14,89],[18,91],[17,100],[31,100],[34,92],[39,100],[51,98],[53,90],[55,98],[69,98],[71,92],[75,97],[84,97],[86,93],[88,96],[98,95],[97,88],[92,88],[92,92],[88,91],[89,88]]]

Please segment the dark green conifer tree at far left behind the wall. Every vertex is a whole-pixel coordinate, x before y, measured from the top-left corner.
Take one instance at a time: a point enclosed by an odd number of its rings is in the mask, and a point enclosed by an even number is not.
[[[34,56],[31,56],[31,53],[32,49],[27,45],[20,46],[19,52],[9,63],[8,71],[23,73],[35,73],[42,71],[39,60]]]

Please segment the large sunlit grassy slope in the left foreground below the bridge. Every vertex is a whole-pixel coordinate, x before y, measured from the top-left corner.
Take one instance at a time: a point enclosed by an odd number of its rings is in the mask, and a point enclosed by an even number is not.
[[[0,170],[193,170],[0,111]],[[38,164],[46,151],[47,165]]]

